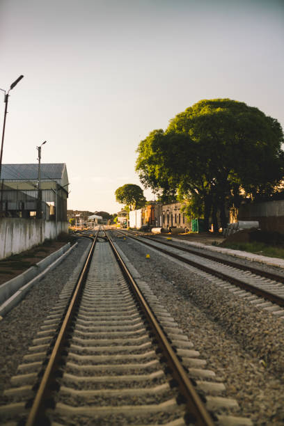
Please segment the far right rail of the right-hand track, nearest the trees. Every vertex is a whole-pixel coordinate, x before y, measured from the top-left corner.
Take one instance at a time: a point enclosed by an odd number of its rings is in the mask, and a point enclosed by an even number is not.
[[[120,232],[122,232],[122,231],[120,231]],[[199,251],[196,251],[196,250],[191,249],[191,248],[180,247],[180,246],[177,246],[176,244],[173,244],[173,243],[168,243],[168,242],[165,242],[165,241],[160,241],[158,239],[153,239],[154,235],[150,237],[148,235],[139,235],[136,232],[127,230],[127,233],[128,232],[136,235],[137,237],[146,238],[146,239],[149,239],[150,241],[151,240],[157,241],[157,242],[159,242],[159,244],[164,244],[165,246],[178,248],[181,251],[186,251],[187,253],[198,255],[198,256],[200,256],[200,258],[214,260],[214,262],[223,263],[223,265],[228,265],[228,266],[231,266],[231,267],[235,267],[237,269],[242,269],[242,271],[250,271],[252,274],[264,276],[265,278],[269,278],[270,280],[279,281],[280,283],[284,283],[284,276],[281,275],[281,274],[277,274],[276,272],[274,273],[274,272],[269,272],[269,271],[262,271],[262,269],[258,269],[256,267],[251,267],[249,265],[242,265],[242,264],[239,264],[237,262],[234,262],[233,260],[216,258],[216,257],[214,257],[214,255],[210,255],[208,253],[200,253]]]

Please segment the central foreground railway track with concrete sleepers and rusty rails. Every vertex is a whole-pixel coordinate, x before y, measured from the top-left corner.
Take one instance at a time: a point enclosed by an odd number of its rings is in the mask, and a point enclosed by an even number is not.
[[[237,402],[148,285],[139,287],[98,231],[79,281],[66,284],[19,365],[1,424],[250,425],[233,416]]]

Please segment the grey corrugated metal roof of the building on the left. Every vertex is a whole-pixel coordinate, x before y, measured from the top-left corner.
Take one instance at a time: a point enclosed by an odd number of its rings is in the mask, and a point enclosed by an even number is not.
[[[42,180],[62,179],[65,163],[41,163]],[[38,164],[2,164],[0,180],[37,180]]]

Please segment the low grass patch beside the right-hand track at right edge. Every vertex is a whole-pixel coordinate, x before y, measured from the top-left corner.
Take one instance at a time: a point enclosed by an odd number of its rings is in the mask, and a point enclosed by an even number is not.
[[[262,242],[223,242],[222,247],[232,248],[233,250],[248,251],[249,253],[255,253],[262,256],[268,256],[270,258],[284,259],[284,247],[283,246],[270,246]]]

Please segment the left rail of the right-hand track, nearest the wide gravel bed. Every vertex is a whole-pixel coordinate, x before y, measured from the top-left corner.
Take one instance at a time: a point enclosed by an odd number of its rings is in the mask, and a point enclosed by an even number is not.
[[[122,233],[124,234],[124,232],[122,232]],[[127,235],[127,234],[124,234],[124,235]],[[136,239],[137,241],[141,241],[140,238],[143,238],[143,237],[134,237],[134,236],[130,236],[130,235],[128,235],[128,237],[132,238],[132,239]],[[205,271],[210,275],[217,276],[218,278],[221,278],[224,281],[228,281],[229,283],[237,285],[238,287],[240,287],[244,290],[248,290],[249,292],[256,294],[257,296],[260,296],[260,297],[267,299],[267,300],[269,300],[273,303],[276,303],[278,306],[284,306],[284,297],[281,297],[281,296],[278,296],[277,294],[273,294],[271,292],[268,292],[267,290],[263,290],[259,287],[256,287],[255,285],[248,284],[248,283],[246,283],[242,280],[239,280],[238,278],[229,276],[229,275],[227,275],[227,274],[225,274],[221,271],[216,271],[216,269],[214,269],[212,267],[200,265],[198,262],[195,262],[194,260],[189,260],[187,258],[184,258],[182,255],[171,253],[170,251],[165,250],[164,248],[161,248],[161,247],[157,247],[157,246],[155,246],[155,244],[151,244],[150,242],[144,242],[144,241],[141,241],[141,242],[143,244],[147,245],[147,246],[155,248],[155,250],[157,250],[157,251],[161,251],[162,253],[165,253],[166,255],[171,256],[172,258],[181,260],[182,262],[185,262],[188,265],[196,267],[197,269],[201,269],[202,271]],[[194,253],[194,254],[198,255],[198,253]]]

